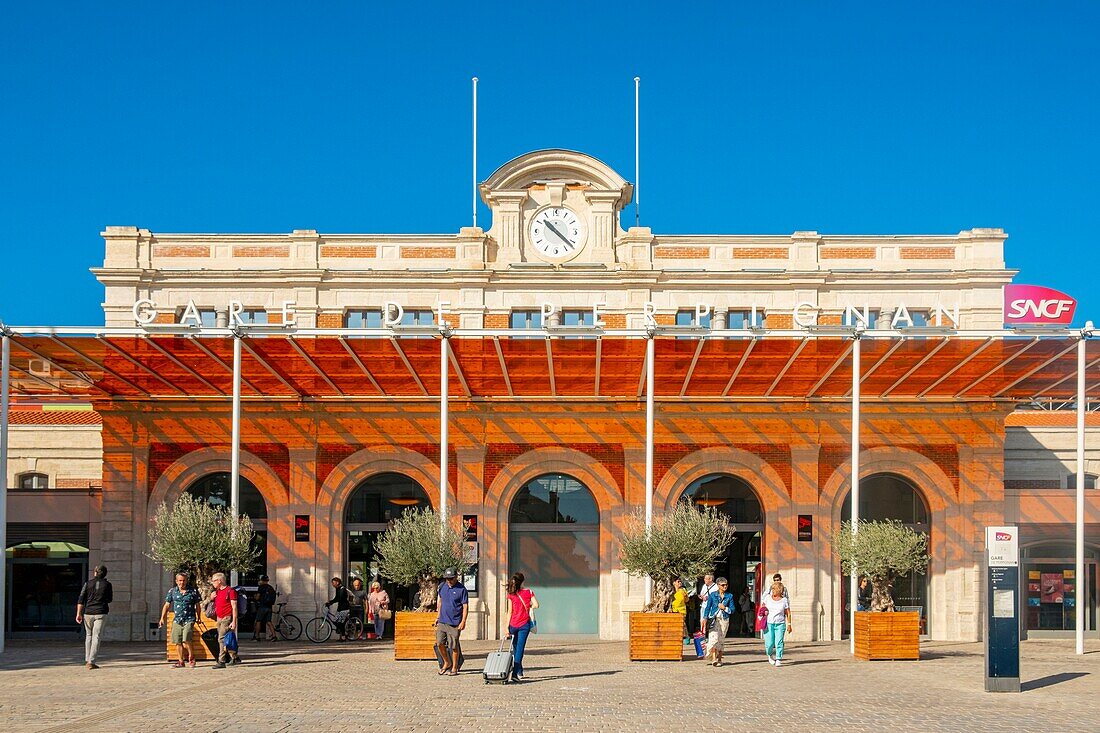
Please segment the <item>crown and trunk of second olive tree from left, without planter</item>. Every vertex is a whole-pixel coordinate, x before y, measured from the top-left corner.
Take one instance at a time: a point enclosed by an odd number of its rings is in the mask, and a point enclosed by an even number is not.
[[[378,572],[403,586],[419,583],[420,608],[435,604],[436,584],[443,570],[454,568],[461,577],[470,568],[465,556],[465,529],[440,526],[429,510],[408,508],[375,543]]]

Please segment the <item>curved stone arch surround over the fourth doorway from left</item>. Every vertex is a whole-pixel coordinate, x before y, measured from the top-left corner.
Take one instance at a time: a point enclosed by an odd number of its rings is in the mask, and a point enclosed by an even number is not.
[[[680,500],[693,481],[715,473],[741,479],[760,500],[765,521],[790,504],[787,484],[768,461],[734,446],[703,448],[672,464],[653,488],[653,504],[666,510]]]

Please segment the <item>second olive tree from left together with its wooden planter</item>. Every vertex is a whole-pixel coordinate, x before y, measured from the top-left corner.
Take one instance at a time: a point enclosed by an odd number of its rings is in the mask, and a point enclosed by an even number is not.
[[[470,564],[465,527],[442,525],[431,510],[406,510],[378,541],[378,572],[403,586],[419,587],[419,605],[394,614],[394,659],[436,658],[436,594],[448,568],[459,577]]]

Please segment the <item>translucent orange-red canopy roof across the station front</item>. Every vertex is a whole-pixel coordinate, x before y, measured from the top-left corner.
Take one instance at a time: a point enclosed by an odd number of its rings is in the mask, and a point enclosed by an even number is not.
[[[233,336],[13,330],[16,400],[228,398]],[[64,331],[64,332],[63,332]],[[438,331],[243,332],[244,400],[439,398]],[[690,331],[656,339],[661,400],[847,400],[845,333]],[[861,400],[1071,401],[1078,336],[950,332],[861,336]],[[449,395],[640,398],[639,331],[453,331]],[[1087,394],[1100,396],[1100,343],[1087,344]]]

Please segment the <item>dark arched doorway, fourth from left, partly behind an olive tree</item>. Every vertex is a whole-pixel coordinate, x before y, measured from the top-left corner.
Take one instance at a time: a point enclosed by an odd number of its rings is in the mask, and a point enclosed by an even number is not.
[[[696,506],[716,508],[733,523],[737,539],[715,562],[715,577],[729,580],[729,592],[734,599],[740,600],[747,588],[749,598],[755,601],[758,595],[756,569],[763,561],[763,507],[752,486],[736,475],[712,473],[692,481],[680,494],[680,501],[685,500]],[[744,614],[737,614],[730,621],[729,636],[755,635]]]

